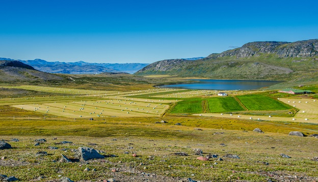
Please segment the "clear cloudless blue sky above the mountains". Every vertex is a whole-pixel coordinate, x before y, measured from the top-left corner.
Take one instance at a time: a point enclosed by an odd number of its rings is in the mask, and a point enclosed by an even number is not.
[[[0,0],[0,57],[153,63],[318,39],[318,1]]]

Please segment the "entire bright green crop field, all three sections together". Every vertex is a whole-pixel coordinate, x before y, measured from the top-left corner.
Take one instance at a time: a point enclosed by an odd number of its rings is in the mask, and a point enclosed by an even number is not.
[[[235,99],[235,97],[237,99]],[[218,113],[218,112],[248,112],[252,115],[263,115],[261,111],[272,111],[272,115],[288,116],[279,112],[284,110],[288,113],[292,111],[290,107],[280,101],[263,95],[241,95],[235,97],[211,97],[211,98],[193,98],[184,101],[179,101],[170,109],[172,114],[194,114],[194,113]],[[275,114],[275,112],[279,112]],[[292,111],[294,113],[294,111]],[[267,114],[267,112],[265,113]]]

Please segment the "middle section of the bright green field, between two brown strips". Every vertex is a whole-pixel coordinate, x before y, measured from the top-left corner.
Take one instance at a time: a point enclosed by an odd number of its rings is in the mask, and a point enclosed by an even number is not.
[[[209,112],[244,111],[245,109],[233,97],[216,97],[207,99]]]

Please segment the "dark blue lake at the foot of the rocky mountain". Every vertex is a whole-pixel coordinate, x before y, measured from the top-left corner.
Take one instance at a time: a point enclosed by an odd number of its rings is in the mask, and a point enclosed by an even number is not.
[[[207,90],[251,90],[281,83],[283,81],[268,80],[205,80],[196,79],[193,83],[160,85],[158,88],[184,88]]]

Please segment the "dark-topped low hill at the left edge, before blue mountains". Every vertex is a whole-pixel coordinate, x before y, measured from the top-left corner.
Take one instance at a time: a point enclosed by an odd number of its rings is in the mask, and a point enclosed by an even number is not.
[[[32,66],[26,65],[17,60],[1,60],[0,58],[0,82],[40,82],[58,81],[63,77],[35,70]]]

